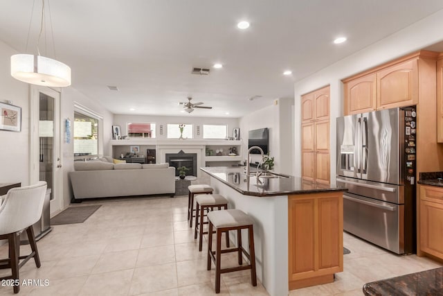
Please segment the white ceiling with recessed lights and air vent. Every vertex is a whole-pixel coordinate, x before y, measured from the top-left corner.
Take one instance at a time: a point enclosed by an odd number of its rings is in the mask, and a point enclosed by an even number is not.
[[[36,53],[41,1],[34,13],[33,0],[0,5],[0,40]],[[293,98],[294,81],[443,9],[443,1],[57,0],[50,8],[55,58],[71,67],[72,87],[109,111],[184,115],[177,102],[192,96],[213,110],[186,116],[239,117]],[[244,19],[251,27],[241,31]],[[342,35],[347,42],[334,44]],[[40,49],[54,58],[49,37],[48,51],[43,38]],[[213,69],[215,62],[224,67]],[[210,75],[191,75],[192,67]]]

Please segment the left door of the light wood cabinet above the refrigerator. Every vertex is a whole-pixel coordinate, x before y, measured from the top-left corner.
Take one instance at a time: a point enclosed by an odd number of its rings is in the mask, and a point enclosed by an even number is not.
[[[377,75],[369,75],[345,82],[345,115],[376,110]]]

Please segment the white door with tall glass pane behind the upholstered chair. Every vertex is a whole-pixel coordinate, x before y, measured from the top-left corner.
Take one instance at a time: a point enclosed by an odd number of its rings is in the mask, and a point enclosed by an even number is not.
[[[62,210],[63,182],[60,154],[60,92],[30,86],[30,184],[46,181],[51,189],[51,215]]]

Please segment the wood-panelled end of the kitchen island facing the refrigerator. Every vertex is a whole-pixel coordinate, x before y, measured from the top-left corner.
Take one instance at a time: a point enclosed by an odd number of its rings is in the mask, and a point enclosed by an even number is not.
[[[289,290],[343,271],[343,192],[289,195]]]

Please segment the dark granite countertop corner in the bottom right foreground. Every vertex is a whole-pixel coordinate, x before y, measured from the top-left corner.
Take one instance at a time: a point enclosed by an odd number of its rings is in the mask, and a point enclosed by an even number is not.
[[[363,286],[365,295],[443,295],[443,268],[435,268]]]

